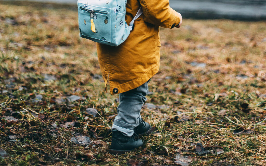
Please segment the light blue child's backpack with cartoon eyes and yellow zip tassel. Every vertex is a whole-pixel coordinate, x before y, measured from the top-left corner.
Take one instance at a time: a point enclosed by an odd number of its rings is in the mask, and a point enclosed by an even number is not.
[[[134,21],[125,21],[127,0],[78,0],[78,25],[80,37],[102,44],[118,46],[134,29]]]

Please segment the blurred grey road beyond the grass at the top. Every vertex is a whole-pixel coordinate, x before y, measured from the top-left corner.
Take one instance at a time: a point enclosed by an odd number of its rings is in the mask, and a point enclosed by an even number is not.
[[[1,1],[1,0],[0,0]],[[15,1],[15,0],[8,0]],[[76,4],[77,0],[30,0]],[[169,0],[184,18],[266,20],[266,0]]]

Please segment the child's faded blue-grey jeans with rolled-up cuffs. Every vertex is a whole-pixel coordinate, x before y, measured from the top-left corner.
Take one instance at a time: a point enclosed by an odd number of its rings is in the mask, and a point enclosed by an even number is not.
[[[149,91],[148,82],[150,80],[135,89],[119,94],[118,115],[115,117],[112,129],[118,130],[128,137],[133,135],[134,128],[139,125],[141,120],[140,110],[147,100],[145,96]]]

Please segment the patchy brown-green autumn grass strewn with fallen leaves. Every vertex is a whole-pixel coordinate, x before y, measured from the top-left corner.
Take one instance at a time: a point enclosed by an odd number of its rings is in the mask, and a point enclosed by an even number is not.
[[[95,43],[78,35],[76,7],[1,1],[0,11],[0,144],[8,154],[0,165],[176,165],[178,153],[196,157],[190,165],[266,165],[265,22],[161,28],[161,67],[147,101],[160,107],[142,110],[154,132],[145,148],[114,156],[107,149],[118,95],[104,91]],[[81,99],[68,102],[71,95]],[[77,133],[91,144],[71,142]],[[198,156],[197,143],[223,152]]]

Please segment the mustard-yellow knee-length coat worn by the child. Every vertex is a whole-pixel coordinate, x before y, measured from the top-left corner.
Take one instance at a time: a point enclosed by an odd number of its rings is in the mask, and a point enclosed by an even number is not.
[[[143,14],[135,20],[133,31],[122,44],[114,47],[97,43],[105,88],[109,81],[112,95],[141,86],[159,71],[159,26],[173,28],[180,23],[177,12],[169,7],[168,0],[128,0],[127,24],[140,7]]]

